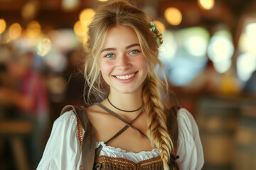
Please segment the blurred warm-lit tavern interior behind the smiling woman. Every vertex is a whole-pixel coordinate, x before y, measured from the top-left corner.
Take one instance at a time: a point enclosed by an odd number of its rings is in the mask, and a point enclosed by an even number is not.
[[[53,122],[83,103],[87,25],[111,0],[0,0],[0,169],[36,169]],[[256,1],[133,0],[191,111],[203,169],[256,169]]]

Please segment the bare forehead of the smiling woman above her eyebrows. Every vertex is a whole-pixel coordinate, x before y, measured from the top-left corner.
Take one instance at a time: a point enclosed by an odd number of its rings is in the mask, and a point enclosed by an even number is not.
[[[107,31],[103,48],[105,47],[122,47],[138,43],[137,34],[132,28],[125,26],[113,26]]]

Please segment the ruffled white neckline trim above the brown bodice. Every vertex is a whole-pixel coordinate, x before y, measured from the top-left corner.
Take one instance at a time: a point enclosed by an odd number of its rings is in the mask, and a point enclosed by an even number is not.
[[[96,142],[96,148],[100,147],[100,145],[102,145],[102,150],[100,151],[99,156],[124,158],[134,163],[142,162],[144,160],[158,157],[160,155],[158,149],[152,149],[151,151],[142,151],[139,153],[135,153],[127,152],[121,148],[107,146],[104,142]]]

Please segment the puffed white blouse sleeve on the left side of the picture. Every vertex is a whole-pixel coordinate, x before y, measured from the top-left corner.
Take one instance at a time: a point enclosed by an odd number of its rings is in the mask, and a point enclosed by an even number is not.
[[[80,164],[81,149],[77,118],[73,111],[68,111],[53,123],[53,129],[37,169],[80,169]]]

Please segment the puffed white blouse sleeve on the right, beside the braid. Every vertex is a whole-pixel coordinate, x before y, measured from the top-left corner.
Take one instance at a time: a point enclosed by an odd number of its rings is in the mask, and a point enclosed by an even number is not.
[[[179,169],[202,169],[203,147],[201,144],[198,125],[191,113],[181,108],[177,114],[178,120],[178,149],[179,158],[176,160]]]

